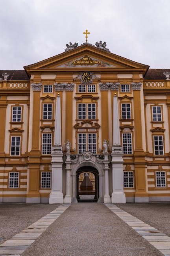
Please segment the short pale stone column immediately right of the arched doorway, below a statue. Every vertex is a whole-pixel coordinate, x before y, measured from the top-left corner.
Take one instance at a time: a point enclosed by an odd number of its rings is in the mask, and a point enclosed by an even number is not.
[[[111,197],[109,195],[109,159],[108,159],[109,154],[104,154],[104,203],[110,203],[111,202]]]

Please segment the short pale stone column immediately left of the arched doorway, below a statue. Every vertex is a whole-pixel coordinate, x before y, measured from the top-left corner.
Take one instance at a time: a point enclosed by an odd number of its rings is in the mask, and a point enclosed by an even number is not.
[[[71,159],[70,153],[66,153],[66,195],[64,198],[64,203],[71,203],[71,195],[70,195],[70,171],[71,171]]]

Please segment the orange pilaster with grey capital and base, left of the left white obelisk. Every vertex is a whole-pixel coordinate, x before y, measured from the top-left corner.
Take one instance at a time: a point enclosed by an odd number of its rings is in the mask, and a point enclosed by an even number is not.
[[[40,94],[42,83],[32,83],[33,89],[33,119],[32,119],[32,147],[29,153],[29,182],[26,203],[40,203],[39,173],[39,122],[40,122]]]

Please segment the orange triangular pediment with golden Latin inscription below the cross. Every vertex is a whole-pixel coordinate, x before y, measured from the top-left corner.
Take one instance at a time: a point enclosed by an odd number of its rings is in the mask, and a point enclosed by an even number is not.
[[[111,52],[101,50],[92,45],[82,45],[73,50],[25,66],[30,71],[48,71],[56,69],[139,69],[146,70],[149,66],[120,57]]]

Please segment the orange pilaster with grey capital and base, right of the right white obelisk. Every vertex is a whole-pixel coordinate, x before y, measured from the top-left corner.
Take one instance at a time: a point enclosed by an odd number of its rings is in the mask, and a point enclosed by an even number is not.
[[[148,193],[146,191],[146,175],[145,175],[145,156],[142,147],[142,120],[141,120],[141,95],[140,89],[141,82],[132,82],[133,89],[133,102],[134,102],[134,124],[135,124],[135,150],[134,150],[134,163],[135,163],[135,202],[148,202]],[[143,94],[143,92],[142,92]],[[144,102],[143,102],[144,104]]]

